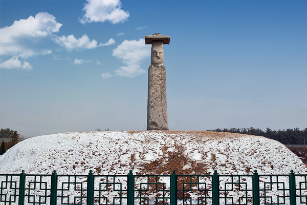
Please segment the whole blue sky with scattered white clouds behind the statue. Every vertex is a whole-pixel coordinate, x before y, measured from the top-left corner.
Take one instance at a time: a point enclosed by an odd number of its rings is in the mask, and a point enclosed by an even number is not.
[[[145,130],[164,45],[170,130],[307,127],[306,1],[0,1],[0,128]]]

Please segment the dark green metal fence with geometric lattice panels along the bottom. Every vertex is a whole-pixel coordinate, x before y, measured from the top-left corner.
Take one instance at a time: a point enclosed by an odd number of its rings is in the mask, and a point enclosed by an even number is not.
[[[1,205],[306,204],[307,175],[0,174]]]

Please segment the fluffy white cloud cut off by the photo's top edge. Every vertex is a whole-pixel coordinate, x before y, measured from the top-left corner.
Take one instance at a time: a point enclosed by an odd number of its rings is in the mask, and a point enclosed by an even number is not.
[[[86,0],[81,24],[109,21],[112,24],[124,22],[129,12],[121,9],[120,0]]]

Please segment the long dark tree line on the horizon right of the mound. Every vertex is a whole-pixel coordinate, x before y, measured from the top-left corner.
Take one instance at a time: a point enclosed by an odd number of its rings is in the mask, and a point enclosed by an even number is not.
[[[270,139],[277,140],[282,144],[293,144],[293,145],[302,145],[307,144],[307,128],[300,130],[299,128],[294,129],[287,129],[287,130],[271,130],[267,128],[265,131],[262,131],[259,128],[217,128],[215,130],[208,130],[208,131],[215,131],[215,132],[232,132],[232,133],[239,133],[239,134],[249,134],[249,135],[256,135],[256,136],[264,136]]]

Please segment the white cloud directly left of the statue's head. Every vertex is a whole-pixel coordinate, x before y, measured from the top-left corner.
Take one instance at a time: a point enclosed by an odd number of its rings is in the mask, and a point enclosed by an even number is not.
[[[126,64],[115,71],[117,76],[135,77],[145,73],[139,64],[141,60],[150,56],[150,47],[145,45],[144,39],[124,40],[113,50],[112,55]]]

